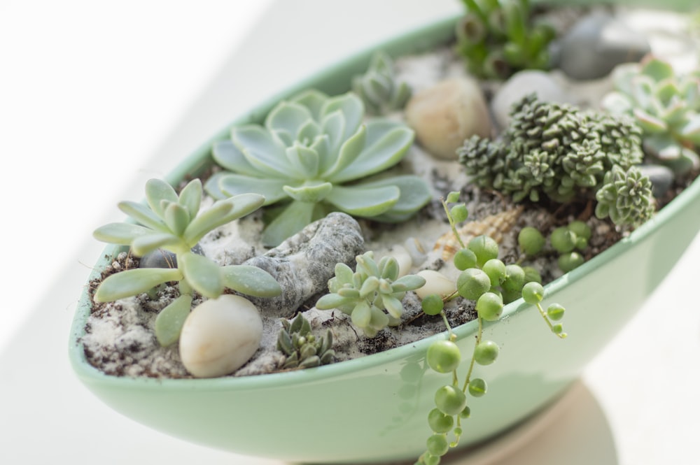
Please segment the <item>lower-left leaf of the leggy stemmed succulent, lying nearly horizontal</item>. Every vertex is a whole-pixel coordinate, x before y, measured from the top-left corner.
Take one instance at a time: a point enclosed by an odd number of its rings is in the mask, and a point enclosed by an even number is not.
[[[94,300],[116,301],[151,290],[163,282],[181,279],[182,273],[176,268],[139,268],[120,271],[102,281],[97,287],[97,292],[94,293]]]

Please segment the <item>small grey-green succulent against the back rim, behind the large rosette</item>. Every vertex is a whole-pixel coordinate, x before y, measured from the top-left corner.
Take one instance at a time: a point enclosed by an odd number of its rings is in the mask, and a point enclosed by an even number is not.
[[[366,73],[353,78],[352,90],[373,115],[400,110],[411,97],[411,87],[397,80],[391,57],[382,52],[372,57]]]

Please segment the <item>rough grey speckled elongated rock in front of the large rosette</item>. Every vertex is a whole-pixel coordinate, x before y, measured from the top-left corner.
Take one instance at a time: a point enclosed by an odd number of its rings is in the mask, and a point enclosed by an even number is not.
[[[330,213],[309,224],[265,255],[247,260],[279,282],[282,294],[273,298],[248,297],[263,315],[290,317],[297,308],[319,292],[328,292],[328,280],[335,264],[355,267],[363,252],[360,225],[345,213]]]

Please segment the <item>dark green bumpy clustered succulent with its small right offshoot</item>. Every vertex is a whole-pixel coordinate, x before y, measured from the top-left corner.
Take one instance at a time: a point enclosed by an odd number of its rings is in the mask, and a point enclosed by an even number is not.
[[[612,171],[626,173],[638,187],[650,185],[636,167],[643,160],[640,136],[639,127],[623,115],[542,102],[530,94],[513,106],[510,124],[498,140],[472,136],[457,153],[466,173],[481,187],[508,194],[516,202],[547,196],[563,203],[600,189],[607,192],[617,180],[606,174]],[[646,188],[601,199],[609,205],[617,201],[617,206],[601,206],[596,212],[599,217],[610,215],[619,225],[640,224],[653,213],[652,208],[630,208],[654,205]]]

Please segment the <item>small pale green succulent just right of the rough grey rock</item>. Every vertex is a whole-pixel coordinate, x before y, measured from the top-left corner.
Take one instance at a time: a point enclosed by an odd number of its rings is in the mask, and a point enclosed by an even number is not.
[[[337,308],[374,337],[381,329],[400,323],[406,292],[423,287],[426,280],[416,275],[399,278],[396,259],[385,256],[377,263],[371,250],[358,255],[356,262],[356,271],[343,263],[335,265],[335,276],[328,280],[330,294],[318,299],[316,308]]]

